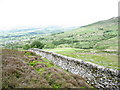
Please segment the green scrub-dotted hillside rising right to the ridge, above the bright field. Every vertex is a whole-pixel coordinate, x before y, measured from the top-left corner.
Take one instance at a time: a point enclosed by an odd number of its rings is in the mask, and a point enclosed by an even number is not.
[[[57,47],[114,49],[118,47],[118,17],[98,21],[64,33],[44,37],[43,42]],[[60,43],[61,42],[61,43]]]

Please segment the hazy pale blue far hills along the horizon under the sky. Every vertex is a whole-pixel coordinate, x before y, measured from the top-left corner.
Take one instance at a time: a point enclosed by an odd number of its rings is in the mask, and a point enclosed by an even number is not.
[[[0,36],[9,37],[22,37],[25,35],[36,35],[36,34],[51,34],[72,30],[76,27],[63,27],[63,26],[40,26],[40,27],[22,27],[6,31],[1,31]],[[14,35],[16,34],[16,35]],[[6,37],[3,38],[6,38]]]

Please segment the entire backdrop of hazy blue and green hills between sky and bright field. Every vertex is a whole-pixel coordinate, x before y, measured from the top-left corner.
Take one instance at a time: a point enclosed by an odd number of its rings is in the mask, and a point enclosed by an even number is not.
[[[44,48],[72,47],[80,49],[118,50],[118,17],[98,21],[81,27],[46,26],[15,29],[0,34],[0,45],[22,48],[34,40]]]

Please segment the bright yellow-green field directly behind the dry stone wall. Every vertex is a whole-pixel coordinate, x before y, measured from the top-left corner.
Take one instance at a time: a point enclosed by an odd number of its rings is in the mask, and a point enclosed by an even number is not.
[[[68,57],[82,59],[84,61],[92,62],[107,68],[119,69],[117,54],[100,52],[94,49],[56,48],[45,50],[53,51]]]

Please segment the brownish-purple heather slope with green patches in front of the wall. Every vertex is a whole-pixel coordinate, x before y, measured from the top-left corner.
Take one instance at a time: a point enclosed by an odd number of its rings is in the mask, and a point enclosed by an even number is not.
[[[28,51],[2,50],[3,88],[90,88],[85,80]]]

